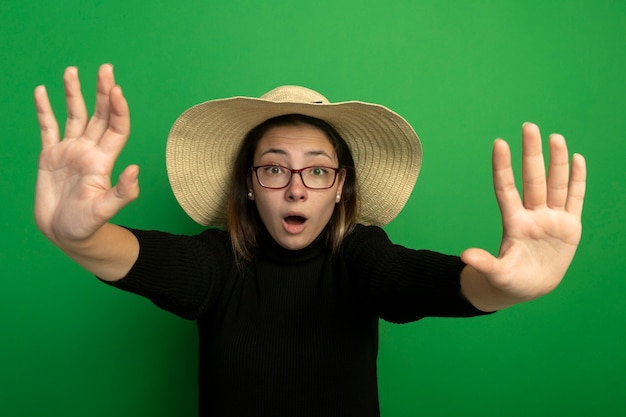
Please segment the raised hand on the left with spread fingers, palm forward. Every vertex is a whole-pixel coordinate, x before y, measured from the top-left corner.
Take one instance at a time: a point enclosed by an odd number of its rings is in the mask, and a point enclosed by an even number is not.
[[[35,89],[41,154],[35,194],[37,227],[62,249],[89,240],[122,207],[137,198],[139,167],[128,166],[111,185],[111,173],[130,133],[128,104],[113,67],[98,71],[91,119],[78,70],[64,74],[67,122],[61,138],[45,87]]]

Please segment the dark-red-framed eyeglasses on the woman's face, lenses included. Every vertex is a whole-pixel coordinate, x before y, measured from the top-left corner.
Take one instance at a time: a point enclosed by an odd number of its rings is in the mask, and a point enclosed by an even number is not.
[[[339,168],[312,166],[302,169],[291,169],[281,165],[259,165],[252,167],[259,185],[263,188],[278,190],[291,182],[293,174],[299,174],[302,184],[313,190],[325,190],[337,180]]]

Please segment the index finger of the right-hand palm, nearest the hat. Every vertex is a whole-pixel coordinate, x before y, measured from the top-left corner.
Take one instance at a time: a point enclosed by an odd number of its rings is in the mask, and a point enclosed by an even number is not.
[[[511,151],[509,145],[502,139],[496,140],[493,144],[492,166],[496,200],[502,213],[502,219],[505,220],[522,208],[522,200],[515,187]]]

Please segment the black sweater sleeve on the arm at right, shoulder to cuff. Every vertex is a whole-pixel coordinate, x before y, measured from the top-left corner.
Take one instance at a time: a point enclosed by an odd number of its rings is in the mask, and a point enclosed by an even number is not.
[[[349,265],[382,319],[406,323],[427,316],[485,314],[461,294],[465,264],[458,256],[395,245],[373,226],[358,226],[345,243]]]

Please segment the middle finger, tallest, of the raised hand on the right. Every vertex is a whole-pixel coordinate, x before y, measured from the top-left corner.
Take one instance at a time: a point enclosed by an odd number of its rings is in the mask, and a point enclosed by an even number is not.
[[[522,127],[522,182],[524,206],[532,209],[546,204],[546,169],[539,128],[532,123]]]

